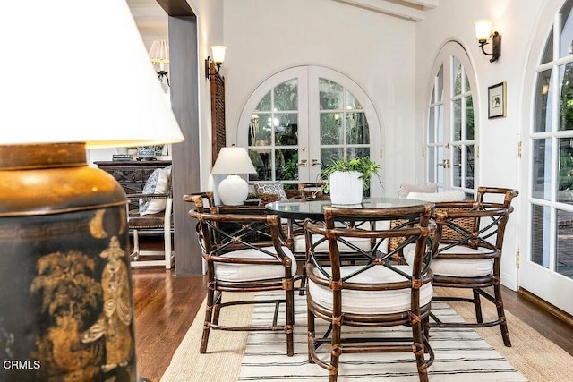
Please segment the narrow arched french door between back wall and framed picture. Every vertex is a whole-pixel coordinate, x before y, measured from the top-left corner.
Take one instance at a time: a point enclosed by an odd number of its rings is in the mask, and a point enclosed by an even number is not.
[[[447,42],[432,68],[423,146],[426,180],[440,190],[473,195],[477,182],[474,114],[475,74],[466,50]]]

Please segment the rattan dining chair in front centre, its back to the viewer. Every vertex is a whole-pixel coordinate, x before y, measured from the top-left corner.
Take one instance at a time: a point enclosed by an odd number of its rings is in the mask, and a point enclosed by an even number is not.
[[[309,261],[306,275],[308,309],[309,361],[329,370],[329,381],[338,379],[339,358],[353,352],[413,352],[421,381],[427,381],[427,368],[432,364],[432,347],[424,336],[432,301],[432,272],[424,264],[432,254],[429,239],[434,225],[429,225],[430,204],[402,208],[324,208],[324,222],[306,220]],[[404,219],[409,225],[389,229],[389,220]],[[337,227],[338,221],[369,221],[370,229]],[[315,255],[314,235],[329,242],[329,264]],[[341,246],[350,246],[350,239],[372,241],[370,250],[354,246],[362,262],[345,265]],[[391,238],[404,239],[394,250],[388,250]],[[409,244],[415,246],[415,262],[393,265],[391,257]],[[320,245],[320,244],[319,244]],[[316,318],[331,323],[329,336],[317,335]],[[380,335],[384,327],[411,327],[412,335],[391,337]],[[360,338],[345,334],[345,327],[363,327],[367,334]],[[329,361],[321,360],[319,349],[329,346]],[[426,360],[425,354],[428,354]],[[381,366],[383,367],[383,366]]]

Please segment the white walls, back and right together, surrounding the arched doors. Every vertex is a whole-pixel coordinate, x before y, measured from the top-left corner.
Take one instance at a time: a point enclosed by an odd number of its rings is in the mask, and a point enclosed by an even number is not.
[[[213,44],[227,45],[227,144],[252,91],[273,73],[300,64],[324,65],[345,73],[372,98],[381,118],[386,194],[402,182],[423,181],[421,144],[431,82],[440,47],[456,39],[466,48],[476,73],[476,132],[479,184],[521,191],[506,233],[504,284],[517,286],[513,254],[526,235],[526,158],[517,144],[528,129],[526,65],[534,62],[547,20],[562,0],[440,0],[423,21],[399,20],[331,0],[189,0],[200,25],[200,61]],[[548,13],[551,13],[548,16]],[[490,18],[502,36],[500,60],[489,62],[475,40],[473,21]],[[542,29],[541,32],[539,29]],[[486,50],[491,49],[486,46]],[[201,73],[200,73],[201,75]],[[487,118],[487,88],[507,82],[506,118]],[[201,157],[210,158],[209,81],[200,81]],[[525,172],[524,172],[525,168]],[[212,184],[210,160],[201,163],[201,186]],[[526,242],[526,241],[523,241]],[[523,249],[522,249],[523,251]]]

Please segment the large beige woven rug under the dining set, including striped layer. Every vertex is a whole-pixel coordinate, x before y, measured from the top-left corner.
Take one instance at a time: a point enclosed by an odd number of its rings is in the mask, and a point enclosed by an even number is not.
[[[231,294],[231,299],[235,297]],[[304,309],[304,297],[297,297],[297,313],[295,317],[295,357],[286,357],[285,335],[270,333],[244,333],[244,332],[220,332],[213,331],[210,335],[210,344],[206,354],[199,353],[201,343],[202,314],[200,313],[193,321],[192,327],[184,337],[179,348],[176,350],[171,364],[167,368],[161,381],[248,381],[248,380],[328,380],[328,373],[317,365],[308,364],[306,360],[306,319]],[[261,311],[258,311],[261,308]],[[438,306],[433,304],[434,311]],[[440,315],[451,315],[458,318],[454,310],[444,304],[440,307]],[[484,314],[489,310],[484,306]],[[267,315],[264,307],[252,308],[240,307],[231,314],[222,316],[235,324],[244,325],[252,319],[261,319]],[[464,381],[558,381],[569,380],[573,375],[573,357],[560,349],[559,346],[546,340],[543,335],[528,327],[523,321],[507,313],[509,320],[509,332],[513,346],[505,348],[500,341],[499,328],[479,329],[479,335],[473,330],[467,329],[435,329],[432,331],[432,347],[436,353],[436,361],[430,368],[430,379],[433,381],[464,380]],[[442,316],[443,317],[443,316]],[[317,321],[318,322],[318,321]],[[437,333],[440,330],[440,335]],[[488,333],[491,332],[491,333]],[[459,338],[464,342],[460,342]],[[441,338],[441,339],[440,339]],[[455,340],[458,338],[458,340]],[[488,343],[483,341],[486,339]],[[264,341],[264,343],[262,342]],[[495,344],[497,343],[499,344]],[[274,343],[274,344],[273,344]],[[493,344],[492,344],[493,343]],[[261,345],[265,351],[260,350]],[[270,347],[274,346],[273,349]],[[492,346],[495,350],[492,350]],[[474,349],[471,354],[473,361],[467,360],[463,352]],[[503,352],[503,354],[500,354]],[[262,354],[262,355],[257,355]],[[345,354],[354,356],[354,354]],[[386,356],[389,354],[379,354]],[[390,354],[391,355],[391,354]],[[395,354],[401,357],[400,364],[406,365],[406,369],[399,375],[392,375],[392,362],[376,360],[376,376],[372,379],[415,381],[418,380],[415,371],[415,363],[410,354]],[[293,362],[282,371],[284,362]],[[404,361],[402,361],[404,360]],[[346,367],[346,376],[340,376],[340,380],[352,380],[355,364],[346,358],[349,365]],[[410,362],[410,363],[408,363]],[[369,366],[370,367],[370,366]],[[342,369],[343,367],[341,367]],[[256,371],[256,369],[260,369]],[[312,372],[308,369],[312,369]],[[363,369],[360,367],[360,369]],[[453,371],[455,369],[456,371]],[[266,371],[265,371],[266,370]],[[270,371],[269,371],[270,370]],[[304,372],[303,372],[304,370]],[[493,371],[496,370],[496,371]],[[518,371],[517,371],[518,370]],[[455,373],[455,374],[450,374]],[[297,377],[296,375],[299,374]],[[300,376],[304,374],[304,376]],[[316,377],[312,377],[316,375]],[[367,380],[366,376],[358,380]]]

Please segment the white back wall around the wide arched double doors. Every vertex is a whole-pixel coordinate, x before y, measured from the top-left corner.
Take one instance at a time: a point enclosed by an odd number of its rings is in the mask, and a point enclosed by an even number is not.
[[[413,181],[415,23],[331,0],[225,0],[227,144],[252,91],[272,74],[312,64],[346,74],[372,98],[382,126],[388,195]]]

